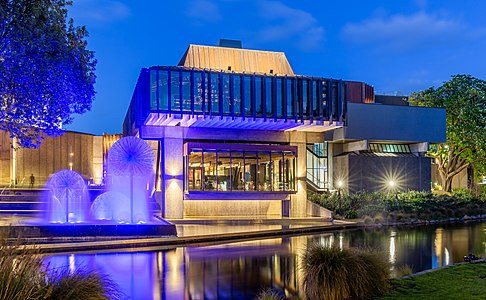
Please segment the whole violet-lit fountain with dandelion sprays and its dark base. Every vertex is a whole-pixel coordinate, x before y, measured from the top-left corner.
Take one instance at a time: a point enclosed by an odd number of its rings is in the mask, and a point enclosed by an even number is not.
[[[23,237],[177,235],[175,226],[152,215],[153,152],[136,137],[118,140],[108,152],[107,190],[90,205],[86,182],[77,172],[55,173],[46,187],[45,216],[27,224]]]

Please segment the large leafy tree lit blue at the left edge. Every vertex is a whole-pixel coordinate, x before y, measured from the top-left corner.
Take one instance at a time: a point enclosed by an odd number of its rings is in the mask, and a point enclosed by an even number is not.
[[[0,130],[21,147],[91,109],[96,60],[66,0],[0,0]]]

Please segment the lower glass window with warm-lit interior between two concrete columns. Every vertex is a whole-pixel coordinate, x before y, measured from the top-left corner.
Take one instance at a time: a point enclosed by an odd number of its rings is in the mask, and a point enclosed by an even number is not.
[[[186,191],[296,191],[295,147],[189,143],[186,148]]]

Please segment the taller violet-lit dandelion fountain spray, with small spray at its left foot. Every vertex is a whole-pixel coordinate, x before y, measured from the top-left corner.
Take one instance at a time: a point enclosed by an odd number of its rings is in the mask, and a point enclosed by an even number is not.
[[[91,211],[98,220],[146,223],[151,219],[147,202],[154,155],[137,137],[124,137],[108,151],[108,192],[98,196]]]

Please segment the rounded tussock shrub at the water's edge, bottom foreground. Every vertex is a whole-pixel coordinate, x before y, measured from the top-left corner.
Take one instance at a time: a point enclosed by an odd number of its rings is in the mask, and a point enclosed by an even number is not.
[[[312,244],[302,259],[307,299],[370,299],[389,290],[389,262],[377,252]]]

